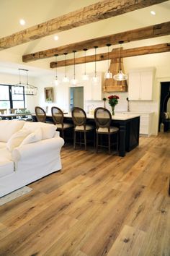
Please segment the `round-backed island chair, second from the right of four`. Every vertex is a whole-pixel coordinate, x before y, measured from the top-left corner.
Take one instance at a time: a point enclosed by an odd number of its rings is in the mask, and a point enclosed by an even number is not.
[[[73,119],[73,124],[74,124],[74,132],[73,132],[73,148],[76,149],[76,144],[84,144],[85,150],[86,150],[86,133],[91,132],[94,130],[94,127],[86,124],[86,112],[84,111],[83,108],[79,107],[74,107],[73,110],[71,111],[72,119]],[[81,133],[84,133],[84,141],[81,140],[76,142],[76,133],[81,135]]]

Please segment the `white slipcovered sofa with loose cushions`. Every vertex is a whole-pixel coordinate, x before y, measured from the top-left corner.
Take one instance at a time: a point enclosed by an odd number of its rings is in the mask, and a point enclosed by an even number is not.
[[[61,170],[64,144],[53,124],[0,121],[0,197]]]

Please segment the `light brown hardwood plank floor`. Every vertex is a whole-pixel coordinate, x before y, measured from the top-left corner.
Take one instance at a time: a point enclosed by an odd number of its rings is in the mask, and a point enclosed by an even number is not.
[[[125,158],[61,152],[62,171],[0,206],[0,255],[170,256],[170,133]]]

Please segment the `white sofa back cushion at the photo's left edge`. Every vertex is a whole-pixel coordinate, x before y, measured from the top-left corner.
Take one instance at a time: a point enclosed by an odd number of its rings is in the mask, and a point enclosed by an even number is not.
[[[0,141],[7,142],[15,132],[22,129],[25,121],[18,120],[1,120],[0,121]]]

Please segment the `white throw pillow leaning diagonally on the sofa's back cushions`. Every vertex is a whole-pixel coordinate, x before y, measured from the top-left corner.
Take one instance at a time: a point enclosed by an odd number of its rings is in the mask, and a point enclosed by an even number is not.
[[[18,132],[15,132],[14,135],[6,143],[6,148],[12,152],[14,148],[17,148],[25,137],[30,135],[31,131],[29,129],[20,129]]]

